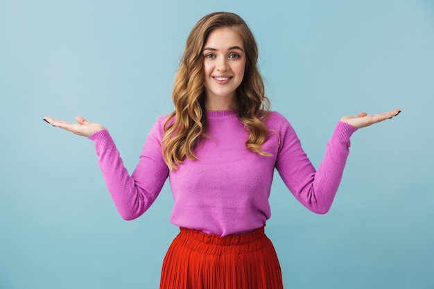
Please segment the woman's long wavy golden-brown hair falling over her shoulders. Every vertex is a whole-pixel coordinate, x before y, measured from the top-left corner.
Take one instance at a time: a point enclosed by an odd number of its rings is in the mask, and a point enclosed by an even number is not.
[[[243,38],[245,71],[241,85],[236,89],[236,112],[239,121],[249,133],[245,147],[259,155],[268,130],[264,125],[268,116],[269,101],[261,73],[257,67],[258,47],[250,28],[238,15],[230,12],[214,12],[202,17],[186,40],[180,69],[173,87],[173,111],[164,123],[162,150],[164,161],[171,170],[177,169],[185,157],[196,159],[194,149],[201,137],[205,137],[207,116],[205,112],[204,58],[202,49],[211,31],[229,27]]]

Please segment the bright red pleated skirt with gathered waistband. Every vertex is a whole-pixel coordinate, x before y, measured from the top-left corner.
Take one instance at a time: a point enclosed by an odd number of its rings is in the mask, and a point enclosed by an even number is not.
[[[164,258],[160,289],[281,289],[275,247],[254,231],[220,237],[180,228]]]

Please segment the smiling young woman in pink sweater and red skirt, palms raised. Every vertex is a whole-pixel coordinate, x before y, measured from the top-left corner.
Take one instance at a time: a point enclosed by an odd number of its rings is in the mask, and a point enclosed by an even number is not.
[[[327,213],[358,128],[399,114],[344,116],[318,170],[290,123],[268,110],[258,49],[243,19],[206,15],[193,27],[175,78],[175,111],[157,120],[132,175],[109,132],[78,116],[52,125],[95,143],[107,188],[125,220],[153,204],[169,177],[180,227],[164,259],[160,288],[283,288],[264,234],[272,175],[315,213]]]

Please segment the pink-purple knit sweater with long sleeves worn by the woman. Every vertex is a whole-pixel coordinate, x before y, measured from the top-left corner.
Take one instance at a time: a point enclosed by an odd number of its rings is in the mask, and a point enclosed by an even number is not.
[[[356,128],[338,122],[315,171],[290,123],[277,112],[266,123],[270,132],[263,144],[272,157],[245,148],[248,134],[233,112],[207,112],[207,119],[212,139],[203,138],[195,150],[198,159],[185,159],[173,172],[164,163],[160,148],[165,117],[150,131],[131,176],[107,130],[89,137],[122,218],[141,216],[169,177],[174,225],[219,236],[251,231],[271,216],[268,197],[275,168],[305,207],[315,213],[329,211],[349,154],[349,137]]]

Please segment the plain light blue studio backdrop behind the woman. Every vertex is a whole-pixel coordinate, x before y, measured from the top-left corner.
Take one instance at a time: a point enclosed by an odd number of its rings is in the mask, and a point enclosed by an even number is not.
[[[331,211],[279,177],[268,236],[286,288],[434,288],[434,1],[0,0],[0,288],[157,288],[177,227],[166,185],[125,222],[92,141],[109,128],[132,172],[203,15],[236,12],[257,37],[272,108],[318,166],[345,114],[402,113],[351,138]]]

